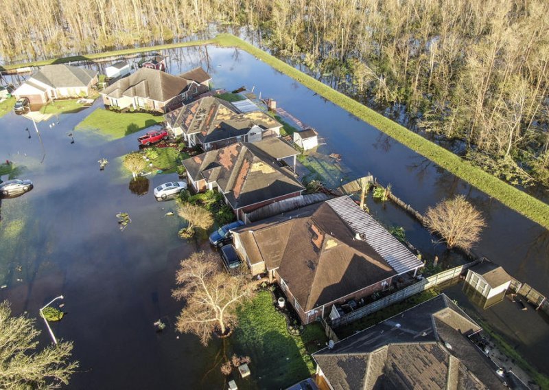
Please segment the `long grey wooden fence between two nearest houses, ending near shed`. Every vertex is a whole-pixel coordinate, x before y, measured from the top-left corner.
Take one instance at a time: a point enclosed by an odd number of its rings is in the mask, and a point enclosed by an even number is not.
[[[387,295],[382,299],[373,301],[372,303],[369,303],[366,306],[362,306],[362,308],[358,308],[353,312],[343,315],[342,317],[330,320],[328,321],[328,323],[331,328],[338,328],[342,325],[347,325],[348,323],[361,319],[362,317],[366,317],[368,314],[377,312],[378,310],[382,310],[383,308],[386,308],[393,303],[403,301],[404,299],[411,297],[412,295],[418,294],[421,291],[428,290],[429,288],[438,286],[439,284],[454,279],[461,275],[461,273],[463,273],[463,271],[465,271],[467,268],[474,266],[479,262],[480,260],[474,260],[473,262],[463,264],[462,266],[450,268],[441,273],[437,273],[436,275],[421,279],[419,282],[414,283],[411,286],[403,288],[402,290],[398,290],[397,292],[393,292],[393,294],[391,295]]]

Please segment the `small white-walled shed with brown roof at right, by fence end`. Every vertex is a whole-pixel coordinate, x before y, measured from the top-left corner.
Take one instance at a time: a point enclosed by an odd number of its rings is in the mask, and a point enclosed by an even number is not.
[[[465,283],[487,299],[487,304],[492,305],[505,296],[505,292],[511,285],[511,276],[502,266],[484,260],[467,270]]]

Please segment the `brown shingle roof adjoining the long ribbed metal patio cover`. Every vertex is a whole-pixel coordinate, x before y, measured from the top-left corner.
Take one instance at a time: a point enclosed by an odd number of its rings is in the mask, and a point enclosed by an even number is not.
[[[240,227],[235,234],[252,263],[278,268],[305,311],[397,275],[366,240],[356,239],[329,201]]]

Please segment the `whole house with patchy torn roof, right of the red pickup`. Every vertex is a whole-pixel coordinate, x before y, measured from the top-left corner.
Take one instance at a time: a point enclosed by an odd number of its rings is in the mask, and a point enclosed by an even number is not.
[[[278,136],[282,127],[262,111],[240,113],[233,104],[214,96],[178,108],[165,119],[174,136],[182,136],[188,146],[200,145],[203,150]]]

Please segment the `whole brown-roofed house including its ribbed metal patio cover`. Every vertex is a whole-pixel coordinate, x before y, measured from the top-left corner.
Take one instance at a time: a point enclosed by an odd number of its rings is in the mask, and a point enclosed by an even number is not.
[[[303,323],[423,267],[349,196],[237,228],[233,242],[252,275],[277,281]]]

